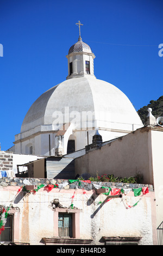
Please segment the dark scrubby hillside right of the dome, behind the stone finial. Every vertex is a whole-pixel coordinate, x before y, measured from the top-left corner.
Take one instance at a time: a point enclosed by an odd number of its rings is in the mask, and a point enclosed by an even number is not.
[[[155,118],[163,117],[163,96],[159,97],[158,100],[151,100],[147,106],[144,106],[137,111],[139,114],[143,125],[145,125],[145,120],[148,115],[148,108],[152,108],[152,114]]]

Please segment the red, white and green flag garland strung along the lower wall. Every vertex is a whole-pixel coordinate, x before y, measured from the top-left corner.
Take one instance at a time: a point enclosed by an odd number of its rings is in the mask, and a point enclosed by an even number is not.
[[[73,182],[76,182],[77,181],[77,185],[76,185],[76,188],[73,192],[73,196],[71,197],[71,204],[68,208],[68,211],[70,211],[70,209],[73,209],[74,208],[74,205],[73,205],[73,200],[74,200],[74,197],[75,197],[75,194],[76,194],[76,191],[78,189],[78,185],[79,187],[82,189],[83,191],[83,194],[84,196],[87,198],[87,200],[90,200],[91,198],[89,198],[89,196],[87,195],[86,191],[84,190],[84,188],[82,187],[82,182],[86,182],[86,183],[91,183],[90,180],[68,180],[68,181],[64,181],[63,184],[48,184],[48,185],[45,185],[45,184],[41,184],[41,185],[38,185],[37,186],[37,189],[35,190],[32,190],[32,191],[27,191],[26,190],[26,186],[21,186],[14,199],[12,199],[11,203],[9,206],[2,206],[1,208],[1,211],[0,211],[0,235],[2,233],[2,231],[4,230],[4,226],[5,226],[5,223],[7,222],[7,216],[8,216],[8,212],[11,208],[11,205],[12,203],[14,202],[16,196],[18,193],[20,193],[21,191],[23,192],[26,192],[26,193],[33,193],[35,194],[37,191],[40,190],[40,188],[44,187],[44,190],[47,191],[48,193],[51,192],[53,190],[53,188],[59,188],[59,189],[62,189],[63,187],[67,186],[68,184],[71,184]],[[104,186],[101,186],[101,185],[97,185],[97,184],[93,184],[93,186],[95,186],[95,188],[108,188],[108,187],[104,187]],[[133,191],[134,192],[134,196],[137,197],[137,196],[140,196],[141,193],[142,193],[142,196],[139,198],[139,200],[134,204],[134,205],[129,205],[127,202],[125,203],[124,200],[123,200],[123,197],[122,197],[122,202],[125,206],[126,209],[131,209],[133,207],[135,207],[137,205],[137,203],[140,202],[140,200],[142,199],[142,197],[149,193],[149,190],[148,190],[148,187],[140,187],[140,188],[127,188],[127,189],[123,189],[123,188],[110,188],[109,187],[109,192],[106,192],[106,193],[103,193],[105,194],[106,196],[116,196],[116,195],[120,195],[120,194],[124,194],[124,196],[126,196],[130,191]],[[92,200],[92,203],[95,203],[95,204],[104,204],[104,203],[107,203],[111,200],[112,198],[107,198],[102,202],[98,202],[96,203],[93,199]]]

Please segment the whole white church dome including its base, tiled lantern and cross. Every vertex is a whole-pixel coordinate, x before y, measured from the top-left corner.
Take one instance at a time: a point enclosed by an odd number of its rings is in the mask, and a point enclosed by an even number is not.
[[[74,151],[84,149],[95,129],[105,142],[143,126],[128,97],[95,77],[95,54],[80,33],[66,58],[66,80],[43,93],[29,108],[21,132],[15,136],[16,153],[28,154],[32,148],[33,154],[63,155],[70,145]]]

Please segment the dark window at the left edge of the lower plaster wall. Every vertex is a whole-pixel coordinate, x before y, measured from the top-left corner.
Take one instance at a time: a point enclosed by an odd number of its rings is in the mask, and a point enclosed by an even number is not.
[[[13,223],[13,215],[10,214],[7,216],[7,222],[5,223],[4,230],[0,235],[0,241],[12,242],[12,223]]]

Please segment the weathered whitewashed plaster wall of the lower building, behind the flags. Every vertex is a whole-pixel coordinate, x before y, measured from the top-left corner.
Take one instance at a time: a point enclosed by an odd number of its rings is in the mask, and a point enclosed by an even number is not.
[[[15,178],[9,180],[3,178],[0,180],[0,205],[9,204],[16,195],[18,188],[27,183],[35,184],[62,184],[65,180],[47,180],[47,179],[23,179]],[[68,208],[72,203],[74,207],[81,209],[80,212],[80,239],[93,239],[92,245],[104,245],[102,236],[141,236],[140,245],[156,244],[155,236],[155,202],[154,191],[151,185],[148,185],[149,193],[142,197],[140,202],[131,209],[126,209],[122,202],[128,202],[133,205],[139,200],[134,197],[133,191],[122,198],[111,199],[104,205],[99,204],[106,199],[104,194],[96,194],[96,187],[93,185],[104,185],[107,187],[131,188],[142,187],[137,184],[111,184],[94,182],[86,184],[82,182],[81,188],[76,188],[76,182],[67,184],[64,188],[53,188],[47,192],[40,188],[35,194],[20,192],[13,207],[18,209],[19,222],[15,227],[16,242],[29,242],[30,245],[43,245],[42,237],[53,237],[55,234],[54,210],[51,202],[57,198],[62,206]],[[93,197],[92,197],[93,196]],[[88,201],[94,198],[94,201]],[[15,218],[14,221],[16,221]]]

